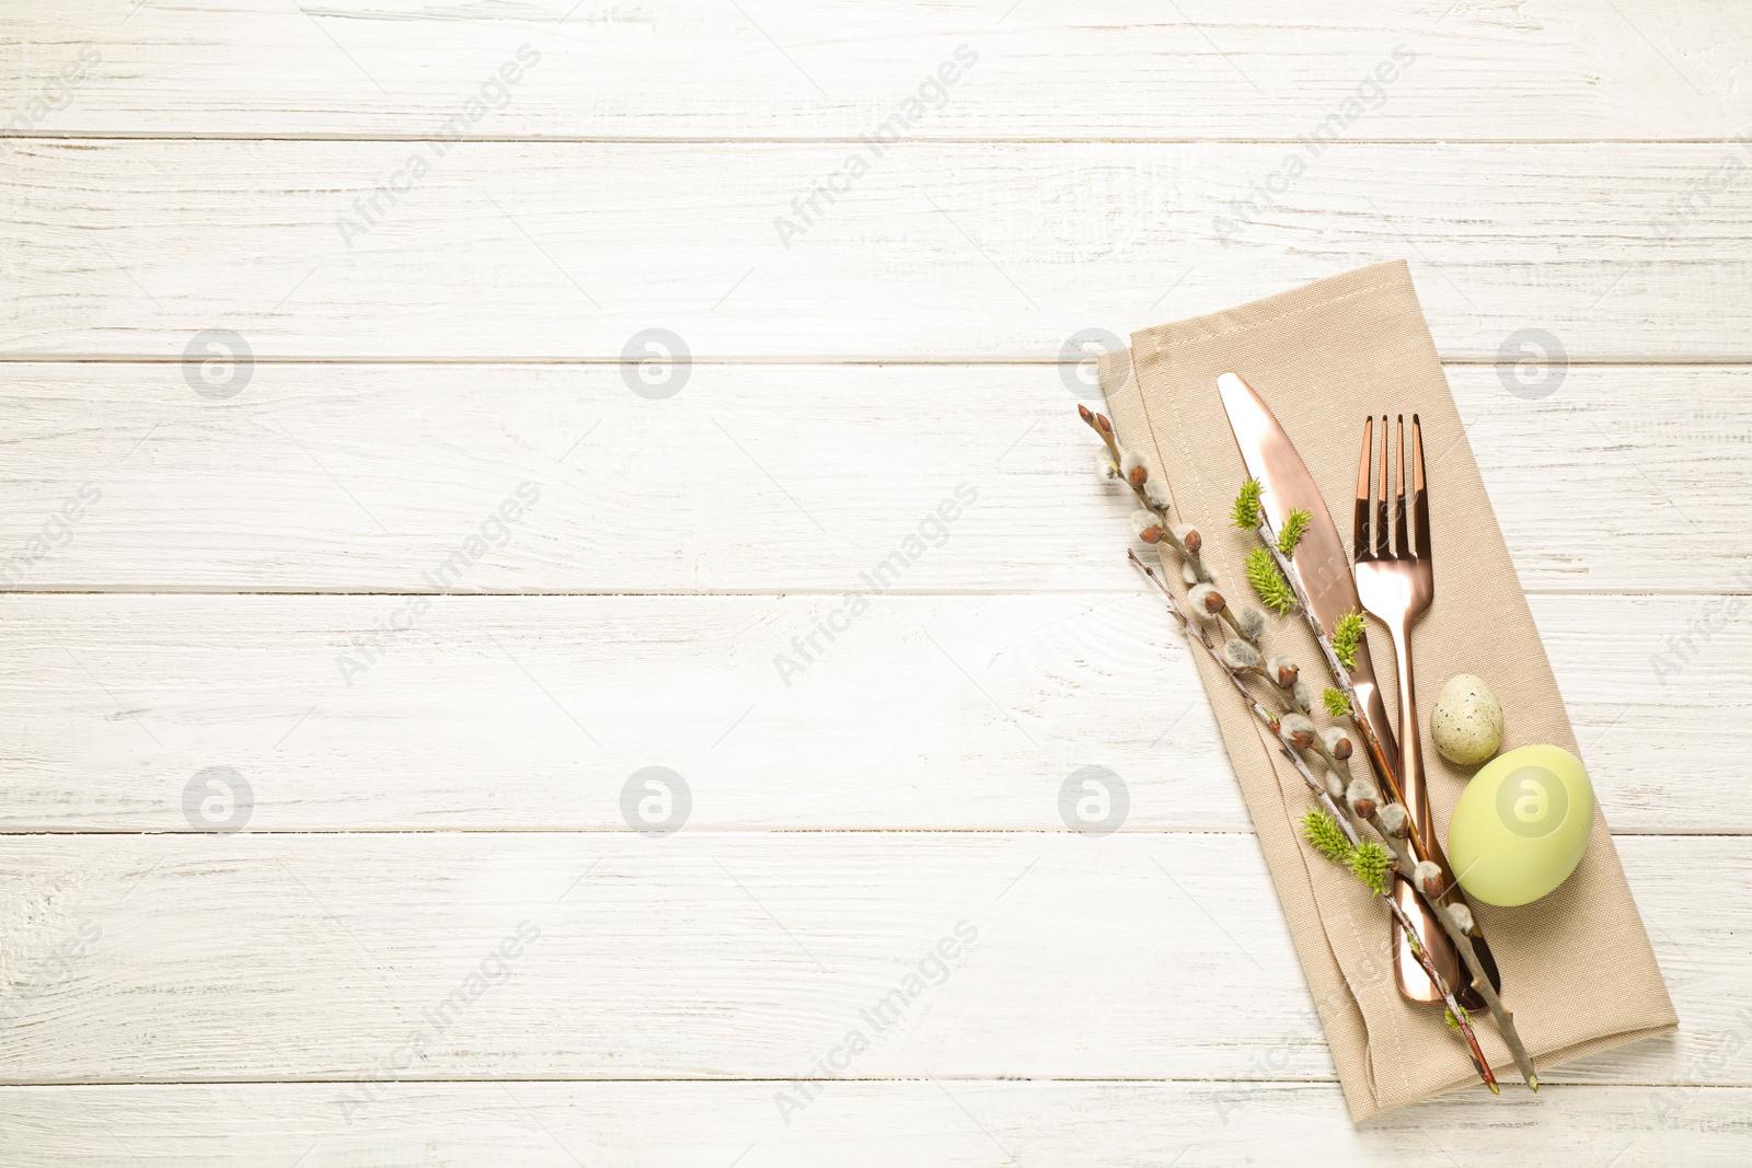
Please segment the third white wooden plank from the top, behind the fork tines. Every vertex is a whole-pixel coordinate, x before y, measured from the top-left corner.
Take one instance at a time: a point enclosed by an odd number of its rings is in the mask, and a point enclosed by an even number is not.
[[[662,403],[613,366],[259,364],[224,401],[163,364],[5,376],[12,590],[431,590],[524,482],[538,504],[450,590],[846,592],[962,483],[895,588],[1137,588],[1056,366],[697,366]],[[1449,380],[1526,588],[1748,590],[1752,371]]]

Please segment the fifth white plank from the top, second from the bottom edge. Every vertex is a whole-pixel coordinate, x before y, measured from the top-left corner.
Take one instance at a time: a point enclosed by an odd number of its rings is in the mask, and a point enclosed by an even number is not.
[[[1752,1086],[1743,909],[1696,895],[1696,872],[1748,879],[1752,846],[1619,844],[1685,1028],[1540,1079]],[[874,1079],[1333,1073],[1246,835],[77,835],[0,858],[12,1084],[787,1079],[850,1030],[867,1049],[834,1058]],[[906,1021],[865,1019],[897,986]]]

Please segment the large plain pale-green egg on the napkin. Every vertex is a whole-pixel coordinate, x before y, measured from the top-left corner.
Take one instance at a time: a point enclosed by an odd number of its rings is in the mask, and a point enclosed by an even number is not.
[[[1447,858],[1466,895],[1531,904],[1570,879],[1593,828],[1582,760],[1559,746],[1522,746],[1472,776],[1447,827]]]

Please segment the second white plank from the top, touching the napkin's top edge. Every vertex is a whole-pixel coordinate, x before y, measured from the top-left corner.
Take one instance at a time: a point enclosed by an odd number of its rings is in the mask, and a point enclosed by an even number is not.
[[[1279,184],[1284,151],[901,144],[851,180],[841,144],[33,140],[0,177],[30,240],[0,354],[224,329],[256,357],[618,361],[666,329],[701,359],[1058,361],[1409,257],[1449,359],[1526,329],[1570,361],[1752,355],[1720,144],[1342,144]]]

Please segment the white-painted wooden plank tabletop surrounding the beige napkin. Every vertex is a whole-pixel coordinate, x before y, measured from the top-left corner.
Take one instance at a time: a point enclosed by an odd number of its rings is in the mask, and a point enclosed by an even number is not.
[[[0,1163],[1752,1161],[1743,5],[0,19]],[[1060,361],[1393,257],[1684,1030],[1353,1128]]]

